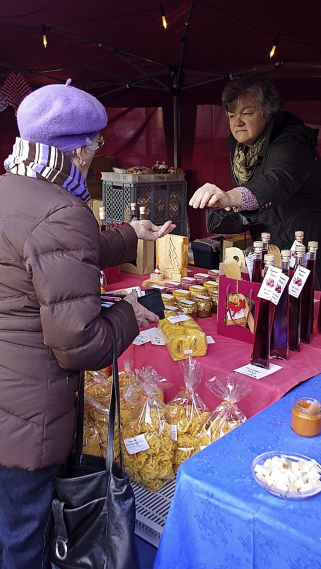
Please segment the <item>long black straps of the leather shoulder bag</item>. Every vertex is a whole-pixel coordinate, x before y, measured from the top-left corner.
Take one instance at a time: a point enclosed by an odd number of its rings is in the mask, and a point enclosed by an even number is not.
[[[113,337],[113,380],[112,390],[110,393],[109,402],[109,417],[108,417],[108,434],[106,440],[106,470],[112,472],[113,459],[114,459],[114,439],[115,439],[115,418],[117,410],[117,427],[118,436],[120,441],[120,467],[124,467],[124,456],[121,446],[121,427],[120,427],[120,384],[118,377],[118,363],[117,363],[117,337],[114,324],[104,314],[104,320],[108,321]],[[77,422],[76,422],[76,447],[75,453],[81,456],[83,453],[83,439],[84,439],[84,388],[85,388],[85,373],[83,370],[80,372],[78,398],[77,398]]]

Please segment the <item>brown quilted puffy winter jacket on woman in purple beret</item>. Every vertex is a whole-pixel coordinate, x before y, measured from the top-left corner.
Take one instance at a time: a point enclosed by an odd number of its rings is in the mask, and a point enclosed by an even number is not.
[[[80,369],[112,362],[100,316],[100,268],[130,261],[130,225],[103,234],[58,185],[0,176],[0,464],[62,464],[71,447]],[[121,353],[138,334],[133,308],[109,309]]]

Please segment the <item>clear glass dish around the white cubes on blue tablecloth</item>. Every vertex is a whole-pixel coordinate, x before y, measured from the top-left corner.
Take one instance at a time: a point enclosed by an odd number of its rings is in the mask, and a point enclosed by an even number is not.
[[[270,486],[264,480],[261,480],[257,473],[255,472],[256,466],[258,464],[263,465],[266,459],[271,459],[274,456],[278,456],[279,458],[284,458],[287,460],[291,460],[293,462],[298,462],[299,460],[314,460],[308,456],[300,455],[297,453],[288,454],[287,452],[282,451],[270,451],[270,452],[263,452],[261,455],[258,455],[252,462],[251,471],[254,480],[267,492],[273,494],[273,496],[278,496],[279,498],[286,498],[287,500],[304,500],[304,498],[310,498],[310,496],[315,496],[321,492],[321,485],[318,488],[312,488],[311,490],[306,490],[304,492],[298,490],[298,492],[291,492],[290,490],[279,490],[275,488],[275,486]],[[315,466],[318,469],[320,476],[319,479],[321,480],[321,464],[315,461]]]

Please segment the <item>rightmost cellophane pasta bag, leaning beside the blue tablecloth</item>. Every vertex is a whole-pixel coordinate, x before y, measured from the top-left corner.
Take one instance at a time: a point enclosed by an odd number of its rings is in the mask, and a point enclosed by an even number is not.
[[[248,380],[235,372],[224,377],[212,377],[206,386],[222,401],[201,425],[197,435],[197,450],[207,447],[246,421],[237,403],[252,389]]]

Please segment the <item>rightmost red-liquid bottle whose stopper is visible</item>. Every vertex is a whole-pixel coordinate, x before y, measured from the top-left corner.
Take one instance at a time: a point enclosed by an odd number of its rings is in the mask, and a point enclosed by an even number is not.
[[[310,269],[310,274],[301,292],[301,328],[300,337],[304,344],[310,344],[313,333],[314,317],[314,287],[315,287],[315,264],[318,241],[309,241],[306,254],[305,267]]]

